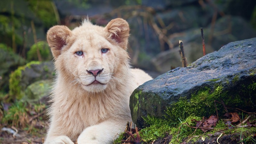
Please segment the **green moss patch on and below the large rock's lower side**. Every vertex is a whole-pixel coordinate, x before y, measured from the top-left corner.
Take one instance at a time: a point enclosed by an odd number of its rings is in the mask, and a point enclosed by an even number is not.
[[[238,77],[235,76],[235,80],[238,81]],[[245,106],[252,106],[256,103],[255,100],[255,89],[256,83],[252,82],[248,85],[237,85],[240,87],[240,90],[236,92],[227,92],[224,91],[221,84],[216,85],[214,90],[211,90],[208,87],[204,87],[198,92],[191,95],[190,99],[186,97],[180,97],[180,99],[171,104],[170,107],[165,111],[164,118],[155,118],[152,116],[144,117],[144,121],[149,126],[140,131],[141,140],[148,143],[158,138],[163,138],[166,135],[172,135],[170,143],[178,144],[182,141],[190,139],[189,141],[197,141],[201,139],[200,135],[205,139],[208,138],[208,134],[218,132],[223,129],[227,129],[227,126],[224,121],[220,120],[213,131],[206,132],[187,126],[194,126],[195,123],[191,122],[192,119],[202,120],[203,116],[209,117],[210,115],[216,114],[214,101],[223,101],[227,106],[236,108],[244,104]],[[223,116],[226,112],[223,106],[219,103],[216,103],[218,108],[219,116]],[[252,108],[251,107],[251,108]],[[241,118],[244,120],[247,116],[244,113],[240,113]],[[256,120],[256,118],[253,118]],[[252,121],[253,121],[252,120]],[[235,128],[228,129],[225,131],[225,134],[232,136],[237,136],[240,141],[243,142],[252,142],[253,136],[252,133],[256,132],[255,127],[244,127],[244,128]],[[191,137],[196,135],[197,137]],[[208,138],[209,139],[209,138]],[[236,140],[237,140],[236,139]]]

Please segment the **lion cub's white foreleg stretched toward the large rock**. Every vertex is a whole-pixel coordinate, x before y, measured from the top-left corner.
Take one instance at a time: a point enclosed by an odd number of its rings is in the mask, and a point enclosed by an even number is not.
[[[120,132],[124,132],[127,121],[104,121],[84,129],[77,139],[78,144],[112,144]]]

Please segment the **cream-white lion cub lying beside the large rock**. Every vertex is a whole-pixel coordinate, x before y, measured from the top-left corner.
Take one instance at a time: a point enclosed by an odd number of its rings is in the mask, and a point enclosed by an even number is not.
[[[45,143],[113,143],[132,121],[130,95],[152,77],[130,68],[129,30],[120,18],[106,27],[85,20],[72,31],[66,26],[49,29],[57,78]]]

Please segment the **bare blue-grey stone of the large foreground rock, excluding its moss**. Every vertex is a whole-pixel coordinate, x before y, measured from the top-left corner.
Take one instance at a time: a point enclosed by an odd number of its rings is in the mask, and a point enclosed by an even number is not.
[[[236,41],[196,60],[186,68],[175,68],[140,85],[131,95],[133,122],[143,127],[141,116],[162,117],[166,107],[180,97],[191,98],[204,87],[214,90],[221,85],[228,96],[240,95],[239,108],[256,108],[256,38]],[[243,95],[240,86],[252,92]],[[246,90],[245,90],[246,91]]]

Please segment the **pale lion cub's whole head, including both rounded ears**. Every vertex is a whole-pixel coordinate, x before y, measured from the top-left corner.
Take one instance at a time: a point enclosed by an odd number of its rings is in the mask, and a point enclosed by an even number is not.
[[[118,65],[128,59],[126,45],[129,26],[126,24],[122,19],[115,19],[105,28],[89,22],[73,31],[64,26],[51,28],[47,33],[47,41],[57,70],[67,73],[72,83],[88,92],[105,90],[115,79]],[[118,28],[117,31],[113,31],[114,28]],[[64,33],[65,36],[58,38],[58,33]]]

